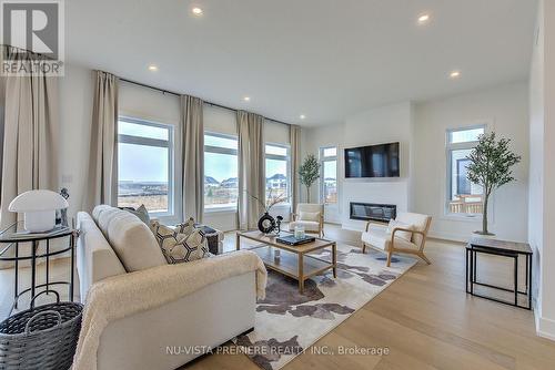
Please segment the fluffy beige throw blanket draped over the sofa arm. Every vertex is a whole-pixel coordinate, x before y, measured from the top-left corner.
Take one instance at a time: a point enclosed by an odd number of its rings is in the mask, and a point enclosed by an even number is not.
[[[72,369],[97,369],[100,337],[110,322],[158,308],[213,282],[250,271],[256,271],[256,297],[263,299],[266,269],[259,256],[248,250],[153,267],[95,282],[87,295]]]

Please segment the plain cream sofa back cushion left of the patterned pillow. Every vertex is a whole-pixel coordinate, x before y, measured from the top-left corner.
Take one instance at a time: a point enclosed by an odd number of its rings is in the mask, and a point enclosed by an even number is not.
[[[154,235],[139,217],[114,207],[103,207],[95,215],[99,228],[128,273],[167,264]]]

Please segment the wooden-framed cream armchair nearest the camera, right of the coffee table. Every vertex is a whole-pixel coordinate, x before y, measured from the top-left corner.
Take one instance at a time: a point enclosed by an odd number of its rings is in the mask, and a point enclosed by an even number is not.
[[[426,264],[431,264],[430,259],[424,255],[424,246],[426,245],[426,236],[432,224],[432,217],[427,215],[400,213],[395,220],[411,225],[412,229],[403,227],[394,227],[387,233],[387,225],[369,222],[366,232],[362,233],[362,253],[366,251],[366,246],[383,250],[387,254],[387,267],[391,266],[391,257],[394,253],[405,253],[416,255]],[[400,233],[411,233],[411,240],[400,237]]]

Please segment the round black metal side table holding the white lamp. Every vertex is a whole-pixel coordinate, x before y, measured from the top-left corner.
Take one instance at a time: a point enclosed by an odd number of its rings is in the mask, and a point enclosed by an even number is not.
[[[73,301],[73,286],[74,286],[74,267],[75,267],[75,241],[79,236],[79,232],[67,227],[53,233],[43,233],[43,234],[29,234],[23,235],[18,232],[18,228],[21,226],[21,223],[16,223],[4,230],[0,232],[0,245],[6,245],[6,247],[0,249],[0,260],[2,261],[13,261],[14,263],[14,294],[13,294],[13,305],[10,310],[10,315],[13,309],[18,308],[19,298],[31,292],[31,298],[37,295],[37,289],[46,288],[47,290],[51,286],[56,285],[67,285],[69,286],[69,299]],[[69,246],[51,250],[50,240],[69,237]],[[41,241],[44,244],[44,249],[41,250]],[[20,244],[30,243],[31,251],[30,254],[20,254]],[[64,254],[70,251],[70,280],[69,281],[50,281],[50,257]],[[46,258],[46,282],[37,285],[37,261],[41,258]],[[24,260],[31,261],[31,286],[27,289],[19,291],[19,264]]]

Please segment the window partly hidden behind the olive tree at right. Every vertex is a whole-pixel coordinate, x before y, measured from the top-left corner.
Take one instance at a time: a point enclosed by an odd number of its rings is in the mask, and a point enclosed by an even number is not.
[[[447,131],[447,213],[476,216],[483,213],[482,186],[466,177],[468,154],[485,125]]]

